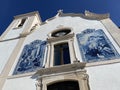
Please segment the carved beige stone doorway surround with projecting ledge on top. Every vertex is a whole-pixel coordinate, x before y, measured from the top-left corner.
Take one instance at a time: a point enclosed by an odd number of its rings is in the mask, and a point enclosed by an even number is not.
[[[90,90],[85,65],[86,63],[75,62],[38,70],[33,75],[37,78],[36,90],[47,90],[48,85],[61,81],[78,81],[79,90]]]

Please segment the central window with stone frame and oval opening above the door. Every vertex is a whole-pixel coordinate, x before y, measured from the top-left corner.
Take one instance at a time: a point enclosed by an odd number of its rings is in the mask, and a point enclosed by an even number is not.
[[[74,33],[70,28],[62,28],[48,34],[48,55],[46,67],[71,64],[76,60]]]

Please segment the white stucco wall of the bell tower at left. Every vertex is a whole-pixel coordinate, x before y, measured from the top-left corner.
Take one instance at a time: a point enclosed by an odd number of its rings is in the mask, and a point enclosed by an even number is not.
[[[16,28],[15,25],[18,20],[14,20],[14,24],[8,29],[8,32],[2,38],[0,42],[0,73],[2,72],[5,64],[7,63],[10,55],[12,54],[14,48],[16,47],[19,39],[17,39],[23,32],[27,20],[22,28]]]

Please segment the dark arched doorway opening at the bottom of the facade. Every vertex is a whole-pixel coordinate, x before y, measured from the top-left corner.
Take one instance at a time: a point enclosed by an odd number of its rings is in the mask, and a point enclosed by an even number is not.
[[[62,81],[47,86],[47,90],[79,90],[77,81]]]

